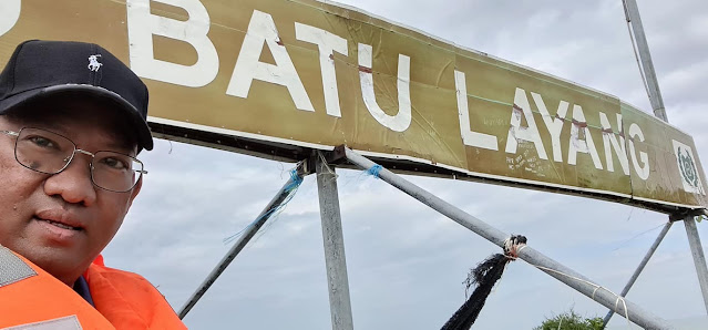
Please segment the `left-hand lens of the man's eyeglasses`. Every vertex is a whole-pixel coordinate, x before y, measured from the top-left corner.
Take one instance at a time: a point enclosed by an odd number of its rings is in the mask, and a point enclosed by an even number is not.
[[[59,173],[71,161],[74,144],[66,137],[39,128],[22,128],[14,147],[18,162],[37,172]]]

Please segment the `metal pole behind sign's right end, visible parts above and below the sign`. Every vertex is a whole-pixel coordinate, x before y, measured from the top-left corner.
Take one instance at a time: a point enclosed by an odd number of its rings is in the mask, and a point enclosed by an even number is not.
[[[649,92],[649,101],[651,107],[654,107],[654,115],[668,123],[666,116],[666,110],[664,109],[664,99],[659,90],[659,83],[654,72],[654,63],[651,62],[651,54],[649,53],[649,45],[646,37],[644,35],[644,28],[642,27],[642,19],[639,18],[639,8],[635,0],[624,0],[627,19],[632,23],[635,38],[637,40],[637,49],[639,51],[639,58],[642,59],[642,66],[646,76],[646,84]],[[708,268],[706,267],[706,257],[704,256],[702,246],[700,245],[700,236],[696,230],[696,221],[691,217],[684,219],[686,226],[686,235],[688,236],[688,243],[690,245],[691,255],[694,256],[694,265],[696,266],[696,272],[698,275],[698,282],[700,283],[700,291],[704,295],[704,303],[706,305],[706,312],[708,312]]]

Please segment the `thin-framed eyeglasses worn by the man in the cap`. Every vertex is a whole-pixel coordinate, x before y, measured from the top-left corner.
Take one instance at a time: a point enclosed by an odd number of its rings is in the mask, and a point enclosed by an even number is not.
[[[135,157],[116,152],[90,153],[76,148],[69,138],[49,131],[24,127],[20,132],[1,131],[14,136],[14,158],[20,165],[44,174],[64,171],[76,153],[91,156],[91,181],[102,189],[125,193],[135,187],[143,174],[143,163]]]

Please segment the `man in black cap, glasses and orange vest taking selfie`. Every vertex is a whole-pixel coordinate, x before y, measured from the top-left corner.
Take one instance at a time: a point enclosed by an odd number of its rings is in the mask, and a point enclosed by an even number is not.
[[[17,48],[0,73],[0,328],[185,328],[100,256],[146,173],[146,86],[101,47]]]

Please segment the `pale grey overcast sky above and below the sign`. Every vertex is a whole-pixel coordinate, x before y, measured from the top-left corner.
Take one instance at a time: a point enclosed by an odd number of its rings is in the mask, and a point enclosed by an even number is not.
[[[620,0],[342,1],[453,41],[607,92],[650,112]],[[671,124],[708,162],[708,2],[639,1]],[[143,192],[109,266],[145,276],[178,310],[294,164],[156,141]],[[439,329],[464,301],[470,267],[500,249],[383,182],[338,171],[357,329]],[[616,292],[667,216],[619,204],[469,182],[408,177]],[[258,234],[185,319],[192,329],[330,329],[315,177]],[[698,228],[708,243],[708,225]],[[705,316],[683,223],[628,295],[664,319]],[[474,329],[531,329],[570,308],[606,309],[524,261],[506,269]],[[632,312],[632,311],[630,311]],[[615,317],[610,327],[626,327]]]

